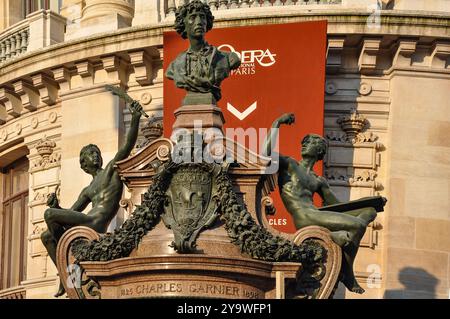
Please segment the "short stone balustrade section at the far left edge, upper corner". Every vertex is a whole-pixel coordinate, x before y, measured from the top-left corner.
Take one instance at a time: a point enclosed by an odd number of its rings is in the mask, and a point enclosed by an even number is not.
[[[0,63],[25,53],[29,37],[30,27],[26,20],[3,32],[0,35]]]

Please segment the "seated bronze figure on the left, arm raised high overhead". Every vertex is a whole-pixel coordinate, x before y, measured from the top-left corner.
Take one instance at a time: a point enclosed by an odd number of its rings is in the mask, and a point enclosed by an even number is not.
[[[41,235],[42,243],[48,251],[52,261],[56,264],[56,247],[66,230],[74,226],[87,226],[98,233],[106,232],[109,223],[116,216],[119,201],[122,197],[123,184],[114,168],[117,161],[130,155],[138,136],[139,118],[142,106],[133,101],[130,106],[131,124],[125,144],[119,149],[114,158],[103,169],[103,159],[100,149],[89,144],[81,149],[80,166],[83,171],[92,175],[92,182],[84,188],[77,201],[69,209],[59,207],[55,194],[50,195],[48,208],[44,218],[48,229]],[[87,213],[82,211],[92,203],[92,209]],[[60,284],[55,296],[64,294],[64,287]]]

